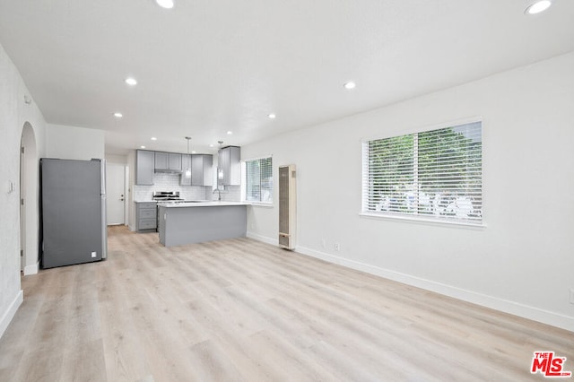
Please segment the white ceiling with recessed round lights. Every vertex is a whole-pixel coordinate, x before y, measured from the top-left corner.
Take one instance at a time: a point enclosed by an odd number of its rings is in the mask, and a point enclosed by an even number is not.
[[[526,4],[0,0],[0,43],[48,123],[103,129],[108,153],[210,152],[574,50],[574,1]]]

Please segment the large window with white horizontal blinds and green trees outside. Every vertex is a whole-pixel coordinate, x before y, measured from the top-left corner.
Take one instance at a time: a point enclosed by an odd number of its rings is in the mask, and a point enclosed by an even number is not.
[[[482,123],[363,142],[362,212],[483,220]]]

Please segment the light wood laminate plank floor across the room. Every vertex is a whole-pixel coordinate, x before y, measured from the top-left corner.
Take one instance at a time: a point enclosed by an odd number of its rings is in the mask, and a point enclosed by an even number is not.
[[[109,229],[109,259],[22,278],[2,381],[543,380],[574,333],[251,239],[161,247]]]

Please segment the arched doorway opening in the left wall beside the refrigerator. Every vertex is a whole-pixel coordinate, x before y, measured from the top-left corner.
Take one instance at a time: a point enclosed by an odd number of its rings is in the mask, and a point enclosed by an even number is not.
[[[38,273],[39,161],[36,135],[29,122],[20,139],[20,248],[24,275]]]

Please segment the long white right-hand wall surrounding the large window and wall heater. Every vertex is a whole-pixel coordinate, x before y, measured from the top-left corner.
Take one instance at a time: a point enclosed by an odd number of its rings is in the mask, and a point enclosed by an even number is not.
[[[273,154],[275,201],[277,166],[297,165],[299,252],[574,330],[573,105],[570,53],[250,144],[241,156]],[[360,217],[362,138],[476,116],[486,227]],[[251,207],[248,236],[276,243],[277,221],[276,202]]]

